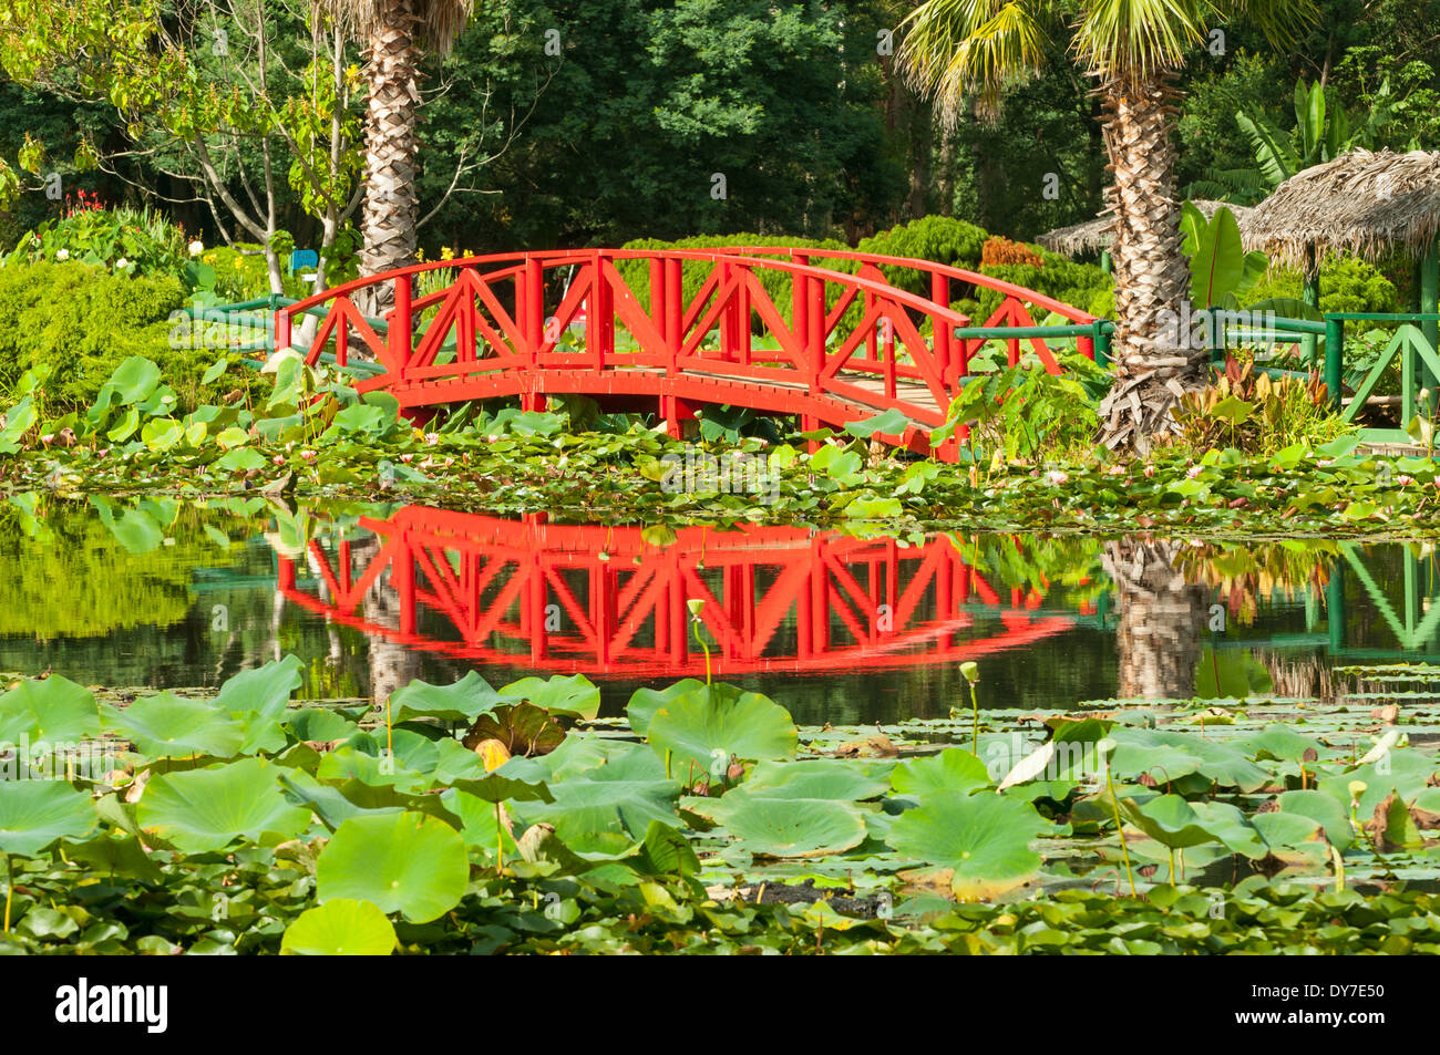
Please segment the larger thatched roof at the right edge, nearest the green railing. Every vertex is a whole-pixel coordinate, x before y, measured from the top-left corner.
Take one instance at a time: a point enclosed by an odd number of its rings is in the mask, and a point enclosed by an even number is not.
[[[1240,219],[1246,249],[1308,272],[1328,252],[1423,256],[1440,232],[1440,154],[1356,150],[1306,168]]]

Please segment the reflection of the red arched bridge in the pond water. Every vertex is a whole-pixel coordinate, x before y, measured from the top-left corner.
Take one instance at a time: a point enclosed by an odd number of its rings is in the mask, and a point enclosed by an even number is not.
[[[691,599],[704,602],[717,675],[973,659],[1076,625],[1038,610],[1037,592],[992,586],[946,537],[901,547],[792,527],[688,527],[654,544],[636,527],[413,505],[389,520],[364,517],[360,528],[373,540],[328,550],[315,540],[304,556],[281,556],[284,596],[364,633],[471,662],[703,675]],[[302,589],[305,570],[314,581]],[[393,592],[384,622],[366,616],[372,590]]]

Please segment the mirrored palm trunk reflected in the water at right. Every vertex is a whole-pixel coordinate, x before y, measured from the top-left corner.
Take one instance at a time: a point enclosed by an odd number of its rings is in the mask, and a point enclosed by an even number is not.
[[[1174,543],[1126,540],[1104,544],[1104,571],[1115,581],[1120,625],[1122,699],[1189,699],[1195,695],[1205,587],[1187,586]]]

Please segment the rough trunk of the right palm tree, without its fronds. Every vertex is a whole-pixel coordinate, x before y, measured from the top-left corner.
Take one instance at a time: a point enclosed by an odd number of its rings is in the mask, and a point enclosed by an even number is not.
[[[1100,439],[1112,450],[1145,455],[1176,430],[1171,410],[1202,384],[1207,361],[1181,325],[1189,269],[1175,199],[1175,91],[1168,76],[1112,81],[1100,91],[1116,214],[1115,387],[1100,404]]]

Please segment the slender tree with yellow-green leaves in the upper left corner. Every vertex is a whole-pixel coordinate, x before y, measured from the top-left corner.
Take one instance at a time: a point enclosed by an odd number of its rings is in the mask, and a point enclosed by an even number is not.
[[[0,65],[20,83],[109,104],[125,145],[101,153],[82,140],[94,161],[147,196],[202,203],[225,240],[255,239],[278,294],[276,235],[291,196],[320,220],[321,250],[359,204],[354,73],[340,36],[307,27],[308,13],[284,0],[174,10],[0,0]],[[163,193],[157,173],[181,190]],[[323,268],[315,282],[323,288]]]

